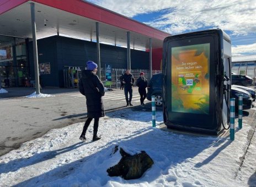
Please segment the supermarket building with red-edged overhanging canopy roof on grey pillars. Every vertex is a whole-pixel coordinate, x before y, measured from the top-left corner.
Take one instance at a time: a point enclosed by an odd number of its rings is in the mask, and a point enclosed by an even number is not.
[[[70,76],[77,76],[76,70],[83,69],[88,60],[98,64],[102,80],[105,65],[116,71],[146,70],[150,78],[161,69],[162,43],[167,36],[81,0],[2,0],[1,84],[25,86],[27,79],[36,81],[40,75],[44,86],[67,87]]]

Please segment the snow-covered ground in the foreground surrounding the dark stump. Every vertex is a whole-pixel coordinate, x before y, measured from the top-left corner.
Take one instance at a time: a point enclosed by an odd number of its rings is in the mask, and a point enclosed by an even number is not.
[[[157,124],[162,122],[162,113],[157,112],[156,118]],[[102,139],[95,142],[91,141],[93,124],[88,129],[86,142],[78,140],[83,123],[51,130],[0,157],[0,184],[247,186],[256,169],[255,159],[246,162],[249,167],[242,169],[242,173],[238,168],[239,158],[247,148],[249,125],[243,124],[242,129],[236,129],[235,140],[230,141],[229,138],[163,131],[159,126],[152,128],[150,120],[150,112],[124,109],[108,113],[100,118],[99,134],[102,134]],[[154,161],[152,168],[136,180],[109,177],[106,169],[121,158],[117,153],[111,155],[115,145],[131,154],[146,151]]]

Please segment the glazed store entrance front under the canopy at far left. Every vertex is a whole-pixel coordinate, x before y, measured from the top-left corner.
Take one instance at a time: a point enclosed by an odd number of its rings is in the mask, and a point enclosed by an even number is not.
[[[25,86],[28,78],[28,40],[0,35],[0,76],[3,87]]]

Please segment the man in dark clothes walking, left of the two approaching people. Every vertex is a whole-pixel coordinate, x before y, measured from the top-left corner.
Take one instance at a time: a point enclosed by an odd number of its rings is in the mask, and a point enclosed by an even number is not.
[[[125,90],[125,100],[126,100],[126,107],[133,106],[131,104],[132,99],[132,86],[134,85],[135,79],[134,75],[130,74],[130,69],[126,69],[126,73],[121,76],[120,81],[124,83],[124,90]],[[129,100],[128,100],[128,92],[129,92]]]

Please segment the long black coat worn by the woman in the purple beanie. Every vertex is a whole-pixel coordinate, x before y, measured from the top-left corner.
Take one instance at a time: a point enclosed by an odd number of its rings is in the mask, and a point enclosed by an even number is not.
[[[104,85],[98,76],[90,70],[83,70],[79,80],[79,91],[86,96],[88,118],[100,118],[105,116],[102,96]]]

